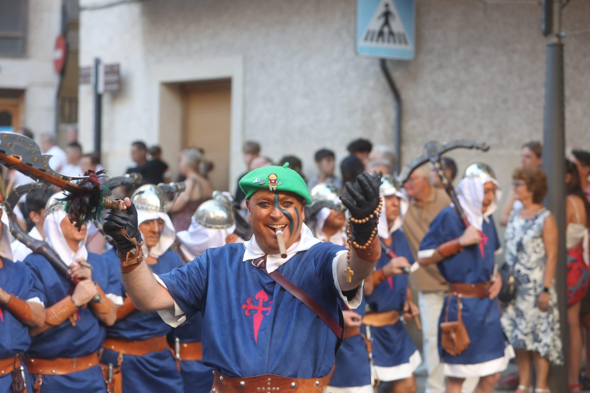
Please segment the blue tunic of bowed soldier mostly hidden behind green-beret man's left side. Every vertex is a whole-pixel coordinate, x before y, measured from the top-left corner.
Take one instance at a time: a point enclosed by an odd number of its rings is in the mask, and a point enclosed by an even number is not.
[[[171,333],[171,342],[178,338],[183,342],[201,341],[203,329],[203,316],[196,313],[181,326],[176,327]],[[213,385],[213,369],[207,367],[202,361],[181,360],[181,375],[185,393],[208,393]]]

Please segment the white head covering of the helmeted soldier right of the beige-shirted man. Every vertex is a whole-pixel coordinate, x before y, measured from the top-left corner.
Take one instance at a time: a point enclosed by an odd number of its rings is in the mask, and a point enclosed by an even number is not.
[[[483,204],[483,185],[487,182],[492,182],[496,185],[496,199],[491,202],[489,207],[487,207],[486,212],[483,213],[481,212],[481,206]],[[457,186],[457,198],[467,215],[469,223],[480,231],[483,220],[489,222],[489,217],[498,208],[497,201],[499,201],[501,197],[502,192],[496,179],[484,173],[476,177],[463,178]]]

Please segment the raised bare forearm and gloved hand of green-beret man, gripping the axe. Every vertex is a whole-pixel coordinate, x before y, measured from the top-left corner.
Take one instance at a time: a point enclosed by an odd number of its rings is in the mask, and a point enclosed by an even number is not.
[[[174,308],[168,290],[158,283],[148,264],[143,261],[142,235],[137,226],[137,211],[129,198],[126,211],[110,210],[104,219],[104,232],[117,244],[121,276],[127,294],[138,310],[144,312]]]

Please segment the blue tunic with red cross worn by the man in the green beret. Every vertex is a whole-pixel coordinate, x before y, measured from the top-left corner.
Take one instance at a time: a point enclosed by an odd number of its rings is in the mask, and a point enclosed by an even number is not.
[[[332,243],[317,243],[277,269],[336,320],[339,293],[332,263],[342,250]],[[243,257],[244,245],[226,244],[160,276],[188,318],[199,310],[204,316],[203,363],[228,376],[329,374],[336,335]]]

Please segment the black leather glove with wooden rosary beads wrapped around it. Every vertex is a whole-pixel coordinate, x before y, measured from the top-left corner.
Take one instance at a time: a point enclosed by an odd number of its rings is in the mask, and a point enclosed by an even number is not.
[[[379,205],[379,185],[381,185],[381,175],[373,177],[367,172],[358,175],[354,183],[346,182],[348,195],[340,196],[340,200],[353,218],[362,220],[373,214]],[[374,215],[366,222],[352,222],[353,240],[364,244],[371,237],[371,232],[375,229],[378,220],[377,215]]]

